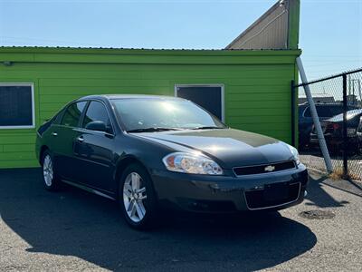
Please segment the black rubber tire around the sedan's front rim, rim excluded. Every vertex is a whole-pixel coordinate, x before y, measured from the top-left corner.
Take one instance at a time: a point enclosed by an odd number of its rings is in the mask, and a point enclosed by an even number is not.
[[[144,206],[146,209],[145,217],[139,222],[134,222],[132,219],[129,219],[126,208],[123,202],[123,186],[126,181],[127,176],[131,172],[136,172],[141,177],[144,185],[146,187],[147,199],[144,200]],[[142,167],[140,164],[130,164],[122,173],[119,180],[119,207],[122,210],[123,216],[126,219],[129,226],[136,229],[146,229],[151,228],[154,225],[157,213],[157,201],[153,189],[152,180],[149,177],[148,171]]]

